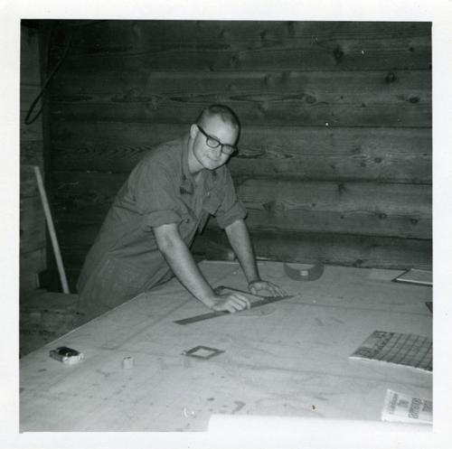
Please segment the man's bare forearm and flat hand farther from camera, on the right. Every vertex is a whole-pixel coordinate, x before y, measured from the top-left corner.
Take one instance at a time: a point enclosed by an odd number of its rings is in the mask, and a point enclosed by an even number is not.
[[[240,266],[245,274],[250,292],[254,295],[260,290],[268,291],[271,295],[285,295],[284,290],[268,281],[260,279],[254,249],[251,244],[250,232],[244,220],[235,220],[225,229],[226,235],[231,243],[236,256],[239,258]]]

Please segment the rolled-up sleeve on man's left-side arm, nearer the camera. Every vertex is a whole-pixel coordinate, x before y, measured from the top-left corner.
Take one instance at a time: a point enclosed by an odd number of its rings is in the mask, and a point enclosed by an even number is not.
[[[135,201],[144,230],[182,220],[174,190],[174,174],[163,164],[138,166],[131,181],[135,185]]]

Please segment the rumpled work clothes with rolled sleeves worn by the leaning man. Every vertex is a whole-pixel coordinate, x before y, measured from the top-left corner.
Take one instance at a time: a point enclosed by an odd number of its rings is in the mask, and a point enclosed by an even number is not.
[[[82,267],[80,312],[90,319],[169,280],[171,268],[157,247],[153,228],[177,223],[187,247],[209,215],[221,228],[245,218],[225,165],[188,168],[189,136],[155,147],[137,164],[108,210]]]

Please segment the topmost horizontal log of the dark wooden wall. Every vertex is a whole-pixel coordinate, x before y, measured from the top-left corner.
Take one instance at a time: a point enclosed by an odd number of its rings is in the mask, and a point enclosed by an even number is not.
[[[431,62],[430,23],[109,21],[74,34],[65,70],[384,70]],[[65,40],[55,41],[61,51]]]

